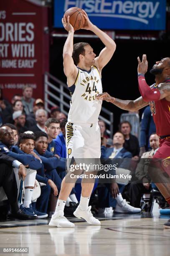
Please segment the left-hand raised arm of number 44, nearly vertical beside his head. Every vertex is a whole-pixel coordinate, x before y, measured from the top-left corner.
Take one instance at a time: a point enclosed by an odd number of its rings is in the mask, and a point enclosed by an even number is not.
[[[74,60],[72,58],[73,53],[73,38],[74,38],[74,28],[71,26],[69,22],[69,16],[62,18],[63,27],[66,29],[66,31],[69,32],[68,37],[66,39],[66,42],[63,47],[63,67],[64,67],[64,74],[67,78],[70,78],[71,76],[76,76],[77,68],[74,65]]]

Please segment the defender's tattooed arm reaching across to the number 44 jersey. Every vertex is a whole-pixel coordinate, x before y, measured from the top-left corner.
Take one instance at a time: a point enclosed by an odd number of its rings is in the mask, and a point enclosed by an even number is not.
[[[107,92],[103,92],[102,94],[98,95],[96,99],[106,100],[107,102],[111,102],[112,104],[116,105],[118,108],[131,111],[136,111],[149,105],[149,102],[145,102],[142,97],[139,97],[136,100],[120,100],[110,96]]]

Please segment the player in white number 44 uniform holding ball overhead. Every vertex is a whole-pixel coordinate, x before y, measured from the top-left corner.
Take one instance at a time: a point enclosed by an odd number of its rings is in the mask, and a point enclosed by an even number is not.
[[[106,33],[94,26],[86,12],[83,12],[86,22],[82,28],[95,33],[105,47],[96,57],[89,44],[73,45],[74,28],[69,23],[69,16],[67,20],[65,16],[63,17],[63,26],[69,32],[63,47],[63,67],[72,95],[68,123],[66,124],[66,146],[68,158],[74,157],[75,161],[83,158],[100,158],[101,136],[98,117],[102,102],[95,100],[95,98],[102,92],[101,70],[112,58],[116,49],[115,42]],[[66,183],[65,178],[63,179],[56,211],[51,218],[50,226],[70,228],[75,226],[63,216],[66,200],[73,186],[74,183]],[[84,183],[82,180],[81,187],[80,204],[74,215],[77,218],[83,218],[90,225],[100,225],[100,221],[93,217],[90,210],[91,206],[89,206],[94,181],[91,182],[90,180],[90,183]]]

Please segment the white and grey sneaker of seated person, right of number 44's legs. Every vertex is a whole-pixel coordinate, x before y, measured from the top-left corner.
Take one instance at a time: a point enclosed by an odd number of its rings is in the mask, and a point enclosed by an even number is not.
[[[126,200],[122,200],[122,202],[117,202],[116,208],[114,212],[119,212],[119,213],[139,213],[141,212],[140,208],[133,207],[129,205]]]

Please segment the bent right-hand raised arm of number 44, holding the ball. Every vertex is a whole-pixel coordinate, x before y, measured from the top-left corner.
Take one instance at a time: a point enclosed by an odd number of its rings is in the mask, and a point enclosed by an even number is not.
[[[104,49],[101,50],[98,57],[95,58],[96,61],[96,67],[101,69],[109,62],[109,60],[112,58],[114,51],[116,50],[116,44],[112,38],[110,38],[106,33],[101,31],[99,28],[97,28],[91,21],[89,20],[86,12],[84,12],[84,18],[86,22],[84,23],[84,26],[82,28],[92,31],[100,38],[100,40],[105,45]]]

